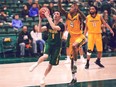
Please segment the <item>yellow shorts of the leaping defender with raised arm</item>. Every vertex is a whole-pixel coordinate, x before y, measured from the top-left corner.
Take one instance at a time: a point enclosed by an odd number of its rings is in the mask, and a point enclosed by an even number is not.
[[[79,44],[79,47],[81,47],[86,41],[86,37],[83,34],[80,35],[72,35],[70,37],[70,46],[69,46],[69,54],[72,54],[72,45],[74,42],[77,42]]]

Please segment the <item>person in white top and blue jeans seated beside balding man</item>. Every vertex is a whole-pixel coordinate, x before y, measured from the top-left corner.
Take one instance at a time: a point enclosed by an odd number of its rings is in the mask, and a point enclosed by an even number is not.
[[[42,39],[42,33],[38,31],[38,26],[34,25],[33,30],[31,31],[31,37],[33,38],[33,51],[34,54],[37,54],[40,49],[40,55],[43,54],[45,41]]]

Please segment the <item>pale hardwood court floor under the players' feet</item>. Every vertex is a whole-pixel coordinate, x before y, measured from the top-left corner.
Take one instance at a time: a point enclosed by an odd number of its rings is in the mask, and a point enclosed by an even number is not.
[[[99,81],[116,79],[116,57],[103,57],[102,63],[105,68],[99,68],[92,58],[90,68],[84,69],[85,64],[78,59],[77,82]],[[47,67],[48,61],[41,63],[33,72],[29,72],[29,67],[34,64],[14,63],[0,65],[0,87],[25,87],[39,85],[39,82]],[[63,84],[71,80],[70,64],[60,61],[58,66],[54,66],[46,77],[46,84]]]

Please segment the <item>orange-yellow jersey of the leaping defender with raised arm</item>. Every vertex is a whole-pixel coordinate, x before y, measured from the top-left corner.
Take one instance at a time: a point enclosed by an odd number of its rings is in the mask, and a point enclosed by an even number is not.
[[[68,13],[68,16],[66,19],[66,25],[71,36],[82,34],[79,14],[77,14],[76,16],[72,18],[70,13]]]

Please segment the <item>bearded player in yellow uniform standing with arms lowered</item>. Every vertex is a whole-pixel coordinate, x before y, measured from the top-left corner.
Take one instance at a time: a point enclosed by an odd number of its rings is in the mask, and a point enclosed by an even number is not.
[[[102,16],[97,13],[97,7],[91,6],[89,12],[90,14],[86,18],[86,29],[84,31],[84,34],[86,34],[88,31],[88,51],[87,51],[87,63],[85,65],[85,69],[89,68],[89,60],[94,45],[96,45],[98,51],[97,60],[95,61],[95,64],[103,68],[104,66],[100,63],[100,59],[102,56],[101,25],[104,24],[110,30],[113,36],[114,36],[114,32],[112,31],[111,27],[104,21]]]

